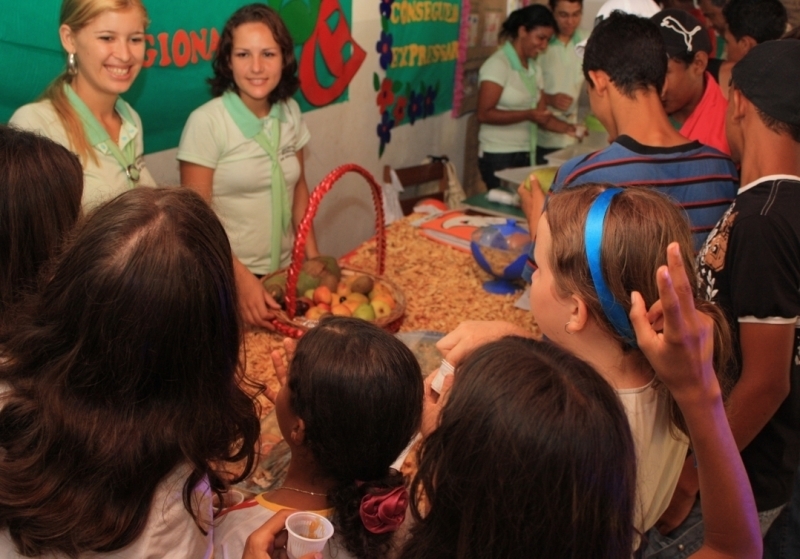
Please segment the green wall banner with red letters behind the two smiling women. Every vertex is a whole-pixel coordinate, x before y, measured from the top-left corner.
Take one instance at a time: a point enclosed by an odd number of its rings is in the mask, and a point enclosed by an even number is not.
[[[150,16],[145,62],[123,95],[142,117],[148,153],[178,145],[189,113],[210,99],[206,79],[225,21],[247,0],[144,0]],[[352,0],[266,0],[295,41],[304,111],[347,100],[366,53],[351,35]],[[13,2],[0,18],[0,122],[35,100],[63,69],[61,0]]]

